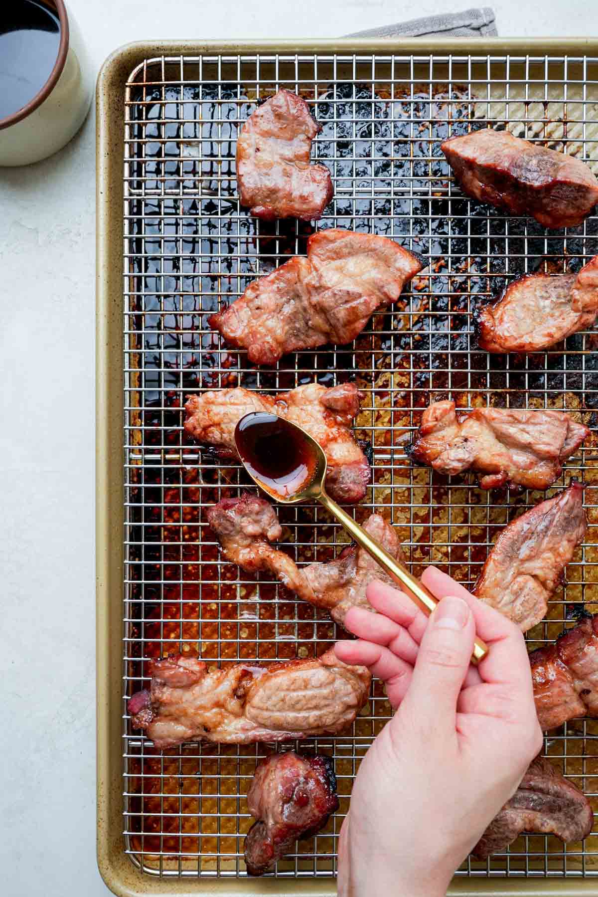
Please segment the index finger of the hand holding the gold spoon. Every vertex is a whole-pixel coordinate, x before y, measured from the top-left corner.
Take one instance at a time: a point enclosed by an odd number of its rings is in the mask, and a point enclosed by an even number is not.
[[[484,604],[437,567],[424,570],[421,581],[436,597],[455,595],[462,597],[471,607],[475,631],[490,649],[478,665],[483,681],[507,684],[516,691],[523,688],[531,692],[532,677],[525,640],[515,623]]]

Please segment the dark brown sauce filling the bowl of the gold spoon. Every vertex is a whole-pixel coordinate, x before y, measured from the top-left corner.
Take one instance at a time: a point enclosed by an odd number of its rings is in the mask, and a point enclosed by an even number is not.
[[[316,457],[308,440],[283,417],[246,414],[235,429],[235,442],[249,473],[281,498],[300,492],[314,476]]]

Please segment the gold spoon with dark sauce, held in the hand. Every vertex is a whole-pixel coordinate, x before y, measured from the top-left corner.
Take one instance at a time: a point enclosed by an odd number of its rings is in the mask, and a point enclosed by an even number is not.
[[[325,492],[326,456],[308,432],[277,414],[253,411],[238,422],[235,443],[247,473],[260,489],[283,504],[319,501],[388,576],[408,590],[424,614],[432,613],[438,598]],[[488,645],[476,637],[472,663],[478,664],[487,654]]]

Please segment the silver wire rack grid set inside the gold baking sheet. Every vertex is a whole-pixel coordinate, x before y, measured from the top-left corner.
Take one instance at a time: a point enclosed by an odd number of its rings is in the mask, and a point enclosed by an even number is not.
[[[305,253],[312,231],[295,221],[257,222],[238,206],[238,127],[256,100],[279,85],[304,96],[322,125],[313,157],[330,167],[334,199],[317,226],[392,237],[424,255],[429,267],[353,344],[253,370],[245,352],[229,350],[206,318],[257,276]],[[447,396],[463,408],[564,408],[596,430],[593,333],[547,352],[490,356],[475,348],[472,312],[518,274],[542,265],[550,271],[581,266],[598,252],[598,219],[544,231],[532,220],[478,205],[455,186],[439,141],[471,127],[507,125],[593,159],[598,134],[588,110],[594,113],[597,94],[598,60],[587,57],[160,57],[130,75],[125,696],[146,684],[149,658],[179,647],[226,663],[306,657],[334,639],[323,612],[220,560],[205,510],[238,494],[246,481],[237,465],[219,465],[186,440],[187,394],[232,386],[277,392],[315,378],[327,386],[355,379],[366,396],[358,435],[374,452],[373,482],[355,515],[363,520],[377,509],[392,520],[415,573],[435,562],[472,585],[501,527],[545,497],[483,492],[469,475],[448,480],[413,466],[403,447],[422,409]],[[568,566],[567,588],[530,633],[533,647],[559,634],[569,605],[594,609],[598,602],[597,474],[593,436],[555,483],[559,489],[571,475],[583,477],[590,527]],[[344,542],[317,507],[279,511],[285,547],[298,562],[329,560]],[[124,833],[134,863],[152,875],[245,875],[243,837],[252,822],[245,796],[256,761],[295,745],[183,745],[159,752],[130,727],[123,706]],[[324,832],[278,863],[277,875],[335,874],[352,778],[389,711],[375,683],[351,734],[311,742],[334,755],[341,809]],[[577,720],[550,734],[546,753],[598,798],[597,739],[594,721]],[[488,861],[467,861],[458,874],[598,875],[598,835],[568,846],[522,836]]]

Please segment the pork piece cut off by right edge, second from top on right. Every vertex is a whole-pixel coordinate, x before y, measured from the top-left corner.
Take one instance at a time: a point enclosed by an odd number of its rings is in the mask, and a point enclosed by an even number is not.
[[[592,327],[598,315],[598,256],[579,274],[526,274],[477,315],[486,352],[535,352]]]

